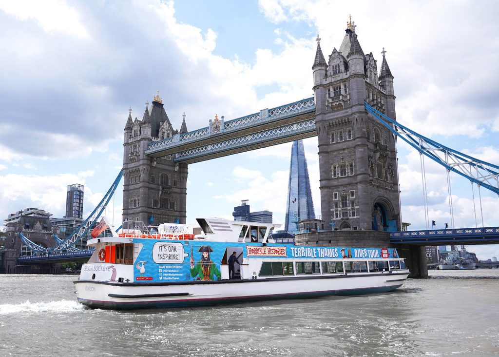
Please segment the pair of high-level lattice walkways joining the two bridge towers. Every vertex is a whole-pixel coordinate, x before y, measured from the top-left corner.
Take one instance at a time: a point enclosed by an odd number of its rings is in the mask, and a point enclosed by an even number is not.
[[[315,100],[305,98],[238,119],[152,142],[146,154],[174,154],[175,162],[191,164],[240,152],[316,136]]]

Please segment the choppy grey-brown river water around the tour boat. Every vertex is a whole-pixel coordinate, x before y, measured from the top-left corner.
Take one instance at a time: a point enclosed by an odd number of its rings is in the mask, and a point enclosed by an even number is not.
[[[77,276],[0,275],[0,356],[494,356],[499,269],[431,271],[379,295],[114,312]]]

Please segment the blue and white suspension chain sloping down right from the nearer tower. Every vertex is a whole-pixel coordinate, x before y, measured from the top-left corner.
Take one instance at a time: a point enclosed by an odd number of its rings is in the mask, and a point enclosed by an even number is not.
[[[364,102],[366,110],[393,134],[433,161],[499,195],[499,166],[431,140],[400,124]],[[497,170],[497,171],[496,171]],[[495,184],[495,186],[494,186]]]

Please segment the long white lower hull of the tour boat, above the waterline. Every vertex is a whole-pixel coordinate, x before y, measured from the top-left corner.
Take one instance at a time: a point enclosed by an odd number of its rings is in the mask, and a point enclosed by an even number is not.
[[[400,287],[408,275],[408,270],[399,270],[393,273],[216,282],[115,283],[79,280],[75,282],[75,293],[78,301],[90,308],[150,309],[218,305],[262,299],[300,299],[327,295],[382,293]]]

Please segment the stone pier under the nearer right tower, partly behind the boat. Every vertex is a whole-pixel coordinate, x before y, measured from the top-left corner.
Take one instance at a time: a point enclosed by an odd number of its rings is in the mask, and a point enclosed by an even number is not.
[[[384,231],[323,231],[296,234],[297,246],[330,246],[358,248],[395,248],[411,272],[410,278],[427,278],[425,247],[390,244],[390,234]]]

